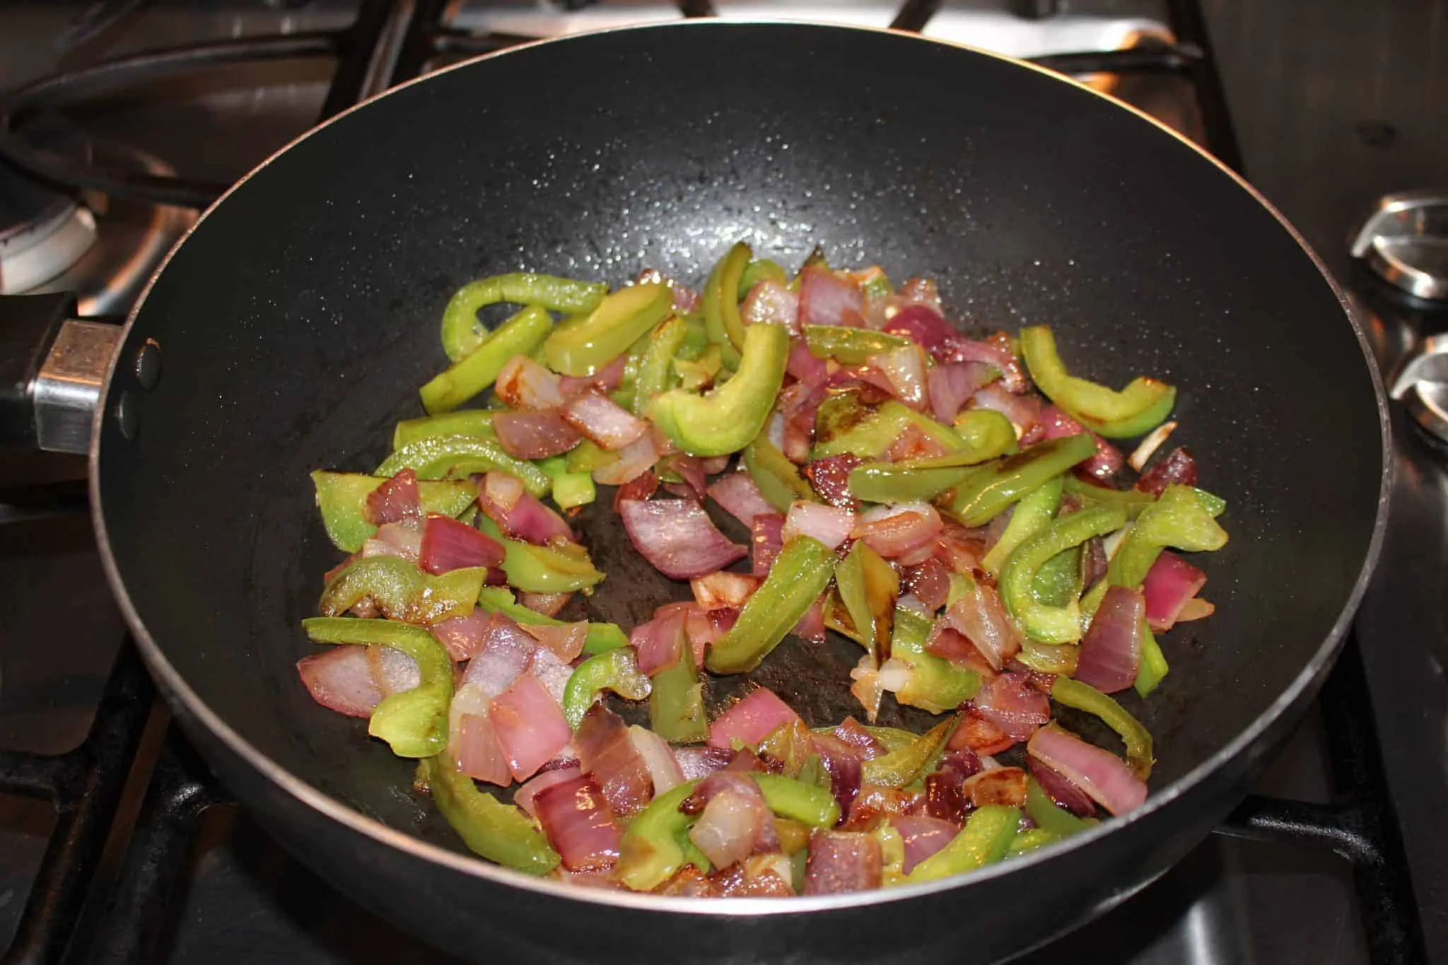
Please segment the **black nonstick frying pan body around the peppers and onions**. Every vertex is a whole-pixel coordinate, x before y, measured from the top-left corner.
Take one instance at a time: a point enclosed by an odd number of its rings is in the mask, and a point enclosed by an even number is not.
[[[883,893],[569,890],[469,856],[407,762],[311,703],[298,622],[337,553],[307,472],[371,470],[391,424],[420,414],[458,285],[520,269],[696,279],[737,239],[786,263],[820,243],[835,263],[933,276],[969,328],[1050,323],[1093,378],[1180,386],[1177,438],[1228,501],[1232,538],[1206,563],[1216,613],[1167,637],[1150,702],[1125,700],[1157,738],[1144,807]],[[143,383],[148,340],[164,365]],[[476,961],[988,962],[1182,858],[1315,693],[1386,512],[1364,344],[1244,182],[1070,81],[889,32],[626,29],[408,84],[236,185],[129,321],[91,493],[116,595],[207,761],[304,862],[417,935]],[[685,590],[607,516],[582,524],[608,573],[588,615],[631,626]],[[856,710],[853,658],[791,641],[756,679],[811,723],[837,720]]]

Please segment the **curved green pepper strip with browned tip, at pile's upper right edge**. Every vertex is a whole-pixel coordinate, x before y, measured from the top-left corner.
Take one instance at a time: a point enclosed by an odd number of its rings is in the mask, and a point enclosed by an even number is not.
[[[1021,330],[1021,354],[1035,386],[1086,428],[1106,438],[1144,435],[1171,414],[1176,388],[1137,376],[1125,389],[1108,389],[1067,375],[1048,326]]]

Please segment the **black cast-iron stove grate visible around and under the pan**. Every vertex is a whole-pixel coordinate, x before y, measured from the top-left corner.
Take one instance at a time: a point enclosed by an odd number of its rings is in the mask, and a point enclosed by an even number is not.
[[[712,16],[710,0],[676,0],[688,17]],[[592,0],[569,0],[581,9]],[[52,107],[138,81],[216,64],[256,58],[336,56],[337,68],[321,119],[356,103],[378,69],[387,36],[397,36],[388,84],[421,74],[430,61],[487,54],[526,42],[501,33],[463,33],[446,23],[446,0],[391,4],[363,0],[353,23],[339,32],[253,38],[172,48],[48,78],[0,101],[0,156],[54,181],[122,197],[203,205],[224,190],[184,178],[145,178],[114,171],[54,165],[19,143],[10,124],[35,107]],[[891,26],[921,30],[938,0],[904,0]],[[1053,0],[1014,0],[1021,16],[1053,16]],[[1128,51],[1092,51],[1038,58],[1066,74],[1166,72],[1190,81],[1202,111],[1206,146],[1235,171],[1242,169],[1237,136],[1222,91],[1199,0],[1167,0],[1174,43]],[[0,965],[61,965],[96,883],[101,851],[111,835],[117,804],[146,726],[153,689],[130,641],[122,648],[85,742],[59,757],[0,752],[0,791],[51,800],[58,820],[26,901],[16,936]],[[1419,910],[1402,835],[1389,797],[1373,709],[1357,641],[1350,637],[1319,699],[1326,728],[1332,786],[1350,788],[1334,804],[1251,796],[1218,833],[1331,849],[1352,867],[1368,955],[1374,965],[1426,962]],[[165,948],[169,907],[185,874],[204,812],[235,799],[222,788],[175,729],[149,775],[136,825],[126,842],[119,875],[106,896],[91,948],[104,962],[156,961]]]

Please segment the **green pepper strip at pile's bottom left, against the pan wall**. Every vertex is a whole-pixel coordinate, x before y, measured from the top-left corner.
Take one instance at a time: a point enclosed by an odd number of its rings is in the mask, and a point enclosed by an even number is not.
[[[427,786],[437,810],[469,851],[527,874],[544,875],[557,867],[557,852],[543,836],[543,828],[517,804],[504,804],[479,791],[446,755],[424,760],[417,768],[418,783]]]

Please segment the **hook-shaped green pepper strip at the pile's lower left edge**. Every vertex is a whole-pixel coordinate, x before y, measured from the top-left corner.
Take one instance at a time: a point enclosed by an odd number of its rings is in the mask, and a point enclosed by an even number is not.
[[[366,732],[387,741],[398,757],[433,757],[447,747],[453,666],[436,637],[397,621],[348,616],[308,616],[301,628],[319,644],[378,644],[411,657],[418,684],[382,697]]]

